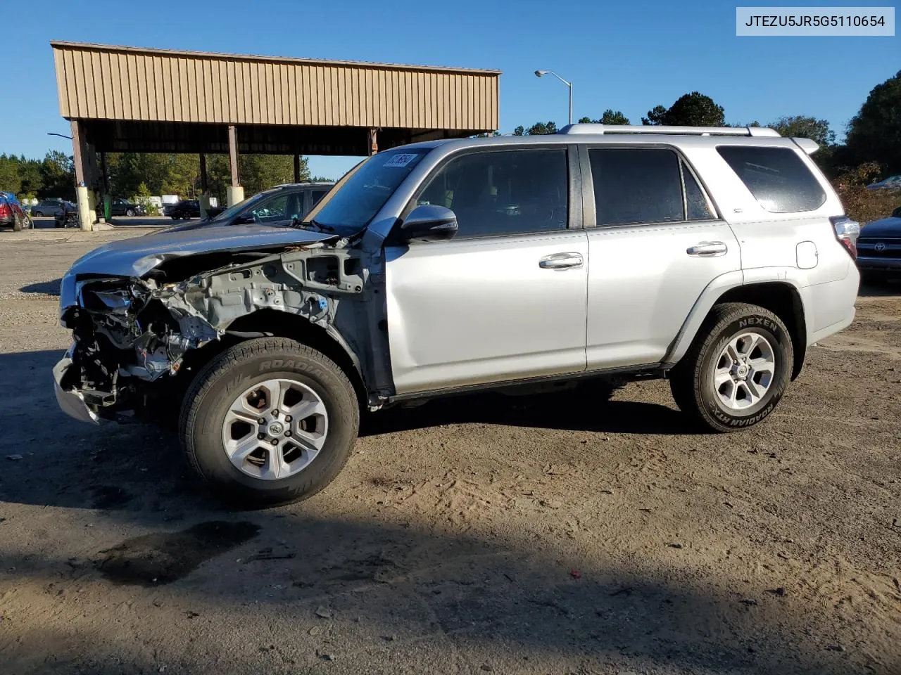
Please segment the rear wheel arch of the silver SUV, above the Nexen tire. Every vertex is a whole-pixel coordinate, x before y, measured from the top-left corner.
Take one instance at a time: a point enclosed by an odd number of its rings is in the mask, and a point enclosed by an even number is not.
[[[714,285],[714,284],[711,284]],[[711,292],[712,291],[712,292]],[[760,281],[751,284],[721,284],[708,289],[695,303],[665,359],[668,366],[676,365],[694,342],[697,331],[714,305],[721,302],[748,302],[767,309],[781,319],[791,336],[795,353],[791,379],[795,380],[804,366],[807,348],[808,305],[804,302],[803,287],[787,277],[781,281]]]

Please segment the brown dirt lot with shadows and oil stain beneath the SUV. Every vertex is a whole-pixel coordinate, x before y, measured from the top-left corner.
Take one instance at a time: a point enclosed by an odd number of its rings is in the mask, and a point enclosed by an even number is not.
[[[901,285],[757,428],[696,435],[664,382],[432,401],[314,499],[237,512],[167,432],[57,408],[57,280],[124,235],[20,234],[0,673],[901,673]]]

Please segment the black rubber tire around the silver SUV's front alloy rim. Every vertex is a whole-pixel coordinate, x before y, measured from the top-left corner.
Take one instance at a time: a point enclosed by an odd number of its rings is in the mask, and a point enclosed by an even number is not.
[[[302,455],[290,464],[283,463],[284,466],[292,466],[295,462],[301,462],[296,465],[304,468],[285,478],[266,478],[249,472],[263,473],[268,470],[268,462],[273,457],[269,454],[269,446],[265,445],[268,439],[259,441],[258,447],[247,459],[239,460],[242,466],[239,468],[232,464],[226,452],[224,434],[228,428],[226,416],[231,414],[232,404],[241,401],[242,392],[249,392],[255,386],[276,379],[290,380],[305,392],[312,392],[310,395],[314,398],[318,397],[325,414],[317,418],[323,421],[314,424],[323,423],[326,426],[318,455],[314,455],[312,460],[308,460],[309,455]],[[254,393],[259,391],[264,390],[254,390]],[[304,396],[306,398],[306,394]],[[280,401],[287,403],[287,398]],[[269,403],[260,401],[260,404],[266,411],[253,414],[268,415]],[[283,411],[279,421],[290,422],[286,426],[296,429],[295,437],[302,437],[296,425],[309,419],[313,417],[288,420]],[[233,424],[241,426],[247,423],[238,420]],[[241,433],[241,438],[244,438],[240,441],[241,445],[256,444],[256,433],[264,429],[268,432],[273,427],[271,422],[267,424],[268,428],[247,425],[250,434],[245,437]],[[188,388],[179,420],[182,446],[196,473],[224,499],[250,508],[305,500],[323,490],[347,463],[358,430],[359,402],[347,375],[320,352],[287,338],[250,339],[229,347],[214,358]],[[285,438],[283,442],[292,441]],[[283,447],[287,448],[284,454],[279,452],[275,456],[283,458],[285,463],[290,453],[299,452],[281,445],[278,446],[279,451]],[[308,463],[304,464],[302,460]],[[257,462],[261,465],[252,464]]]

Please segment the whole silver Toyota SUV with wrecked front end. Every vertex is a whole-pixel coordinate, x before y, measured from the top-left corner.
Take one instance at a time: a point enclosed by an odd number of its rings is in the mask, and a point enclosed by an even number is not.
[[[62,280],[59,403],[176,401],[197,473],[254,505],[322,490],[361,410],[451,392],[661,377],[705,428],[750,427],[854,315],[859,227],[815,149],[592,124],[418,143],[303,220],[106,244]]]

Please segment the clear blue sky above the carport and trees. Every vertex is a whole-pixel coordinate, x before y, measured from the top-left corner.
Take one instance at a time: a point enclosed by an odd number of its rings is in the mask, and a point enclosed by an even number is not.
[[[746,3],[743,3],[746,4]],[[698,90],[730,122],[810,114],[842,135],[869,90],[901,69],[901,36],[735,36],[735,5],[491,2],[153,3],[31,0],[5,4],[0,66],[18,103],[3,95],[0,152],[71,152],[59,117],[49,40],[167,49],[486,67],[501,76],[501,130],[622,110],[633,123],[661,103]],[[311,157],[314,174],[336,177],[356,162]]]

